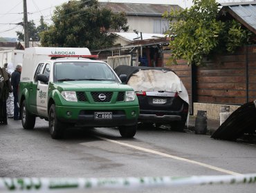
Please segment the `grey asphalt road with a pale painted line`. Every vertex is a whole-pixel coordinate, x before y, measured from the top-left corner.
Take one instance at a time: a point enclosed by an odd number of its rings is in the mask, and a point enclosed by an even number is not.
[[[35,130],[21,121],[0,125],[0,177],[202,176],[256,173],[256,145],[210,139],[208,135],[138,128],[122,139],[116,128],[66,130],[53,140],[48,122]],[[256,183],[153,187],[136,192],[255,192]],[[92,191],[94,192],[94,191]],[[97,192],[107,192],[100,190]],[[109,192],[130,192],[111,190]],[[134,191],[133,191],[134,192]]]

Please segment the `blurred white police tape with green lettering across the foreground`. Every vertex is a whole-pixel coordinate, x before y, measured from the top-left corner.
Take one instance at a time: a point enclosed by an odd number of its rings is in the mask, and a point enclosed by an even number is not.
[[[127,178],[0,178],[0,192],[53,192],[53,190],[127,189],[183,185],[255,183],[256,174],[237,176],[127,177]]]

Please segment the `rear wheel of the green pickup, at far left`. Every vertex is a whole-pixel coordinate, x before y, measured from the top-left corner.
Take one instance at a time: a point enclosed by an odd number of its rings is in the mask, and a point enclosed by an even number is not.
[[[21,123],[25,130],[33,130],[35,127],[35,116],[28,112],[26,108],[26,100],[21,104]]]

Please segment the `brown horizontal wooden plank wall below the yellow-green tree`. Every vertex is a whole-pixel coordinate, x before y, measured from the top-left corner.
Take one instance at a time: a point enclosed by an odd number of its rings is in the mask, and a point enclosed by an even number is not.
[[[171,68],[181,78],[193,102],[243,105],[256,99],[256,45],[247,45],[234,54],[223,54],[205,65],[196,66],[192,80],[191,65],[178,61],[170,64],[170,53],[163,53],[163,66]]]

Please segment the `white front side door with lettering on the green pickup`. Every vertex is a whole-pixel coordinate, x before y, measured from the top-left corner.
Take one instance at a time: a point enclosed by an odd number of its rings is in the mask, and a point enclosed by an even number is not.
[[[51,69],[51,65],[49,63],[46,63],[42,74],[44,74],[44,75],[46,75],[46,77],[50,78],[50,69]],[[38,81],[38,84],[37,84],[37,113],[39,115],[48,116],[47,103],[48,103],[48,83]]]

